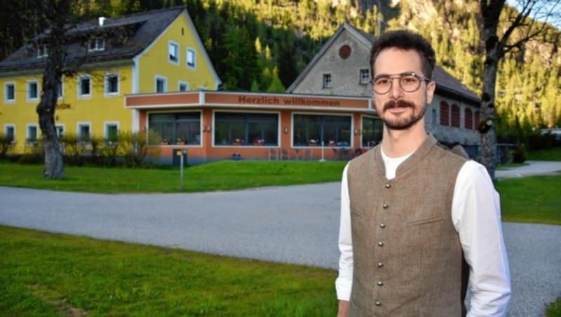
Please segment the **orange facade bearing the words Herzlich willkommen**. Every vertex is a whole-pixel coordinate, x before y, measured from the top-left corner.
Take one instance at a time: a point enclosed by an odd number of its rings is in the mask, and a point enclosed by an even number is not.
[[[137,112],[140,128],[148,129],[149,116],[153,114],[200,114],[196,144],[159,144],[163,161],[173,156],[174,149],[187,149],[189,162],[205,162],[232,158],[239,154],[249,159],[334,159],[342,158],[363,149],[363,118],[374,118],[372,101],[367,97],[325,97],[316,95],[232,93],[221,91],[196,91],[185,93],[158,93],[126,96],[125,107]],[[220,143],[217,140],[217,114],[269,114],[278,118],[277,140],[273,144],[259,142]],[[343,116],[350,119],[351,132],[344,145],[328,144],[317,140],[315,144],[295,144],[295,115]],[[243,140],[241,140],[243,142]],[[322,149],[321,142],[324,142]],[[274,153],[273,153],[274,152]],[[323,152],[323,153],[322,153]],[[346,155],[345,155],[346,156]],[[348,157],[348,156],[346,156]]]

